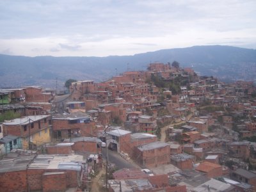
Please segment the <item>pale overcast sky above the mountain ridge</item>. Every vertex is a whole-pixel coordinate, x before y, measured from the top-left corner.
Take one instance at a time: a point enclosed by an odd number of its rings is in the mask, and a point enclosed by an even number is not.
[[[132,55],[193,45],[256,48],[252,0],[0,0],[0,53]]]

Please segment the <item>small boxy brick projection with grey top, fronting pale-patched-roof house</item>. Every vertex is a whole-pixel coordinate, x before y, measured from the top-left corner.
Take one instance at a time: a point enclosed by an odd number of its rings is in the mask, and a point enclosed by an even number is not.
[[[65,172],[52,172],[51,175],[43,175],[43,192],[65,191],[67,180]]]

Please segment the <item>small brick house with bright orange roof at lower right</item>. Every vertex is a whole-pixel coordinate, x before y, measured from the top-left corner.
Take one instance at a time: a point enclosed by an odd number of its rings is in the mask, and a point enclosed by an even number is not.
[[[208,178],[220,177],[222,176],[222,166],[220,164],[211,163],[204,161],[200,163],[196,170],[199,172],[206,173]]]

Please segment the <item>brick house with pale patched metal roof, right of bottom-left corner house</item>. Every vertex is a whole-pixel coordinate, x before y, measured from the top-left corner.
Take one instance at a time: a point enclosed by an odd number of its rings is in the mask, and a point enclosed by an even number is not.
[[[83,163],[83,156],[78,155],[38,155],[28,166],[29,190],[65,191],[77,188],[83,177]]]

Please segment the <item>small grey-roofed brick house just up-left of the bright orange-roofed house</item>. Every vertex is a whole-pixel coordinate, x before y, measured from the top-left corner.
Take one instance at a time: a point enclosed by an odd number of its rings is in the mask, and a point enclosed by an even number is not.
[[[193,168],[195,156],[191,156],[188,154],[177,154],[171,156],[171,163],[180,170],[191,170]]]

